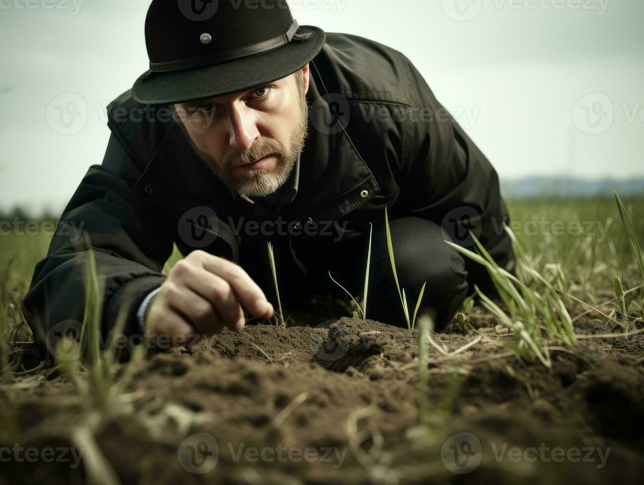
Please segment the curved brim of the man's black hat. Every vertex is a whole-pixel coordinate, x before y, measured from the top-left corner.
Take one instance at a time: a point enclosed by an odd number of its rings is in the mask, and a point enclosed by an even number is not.
[[[244,91],[287,77],[301,69],[322,50],[326,34],[321,28],[302,25],[299,33],[311,35],[288,44],[223,64],[156,73],[146,71],[132,87],[139,104],[175,104]]]

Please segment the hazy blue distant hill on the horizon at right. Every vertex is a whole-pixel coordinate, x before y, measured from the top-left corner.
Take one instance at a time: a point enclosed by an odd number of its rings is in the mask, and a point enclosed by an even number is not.
[[[620,196],[644,195],[644,177],[634,177],[628,180],[612,178],[587,180],[584,178],[531,176],[515,180],[501,180],[501,192],[509,198],[611,197],[613,189]]]

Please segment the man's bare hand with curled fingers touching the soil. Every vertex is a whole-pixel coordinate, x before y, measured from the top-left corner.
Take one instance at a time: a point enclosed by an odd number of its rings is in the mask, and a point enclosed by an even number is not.
[[[218,334],[223,327],[242,330],[240,303],[256,318],[273,316],[273,306],[242,267],[194,251],[175,264],[149,304],[146,328],[153,341],[164,336],[178,346],[193,340],[191,336]]]

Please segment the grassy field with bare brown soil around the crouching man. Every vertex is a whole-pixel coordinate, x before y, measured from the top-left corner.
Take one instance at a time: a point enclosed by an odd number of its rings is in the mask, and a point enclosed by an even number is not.
[[[509,201],[518,279],[498,272],[503,298],[466,305],[444,334],[331,301],[335,323],[314,307],[296,327],[249,325],[129,364],[40,363],[16,345],[49,237],[14,224],[0,236],[0,483],[636,480],[644,199],[623,202],[630,238],[614,198]],[[82,459],[47,461],[50,448]]]

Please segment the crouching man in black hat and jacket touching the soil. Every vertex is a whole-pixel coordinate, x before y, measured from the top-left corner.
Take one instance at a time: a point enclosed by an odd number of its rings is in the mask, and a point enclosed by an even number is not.
[[[23,310],[39,341],[82,321],[90,252],[105,331],[125,322],[184,345],[362,291],[368,318],[405,325],[401,289],[439,327],[486,275],[444,240],[478,236],[513,267],[493,167],[402,53],[354,35],[298,26],[284,0],[155,0],[150,70],[108,106],[111,137],[35,268]],[[81,226],[80,222],[84,225]],[[441,227],[442,225],[442,227]],[[373,229],[373,232],[371,230]],[[166,276],[176,243],[184,255]]]

